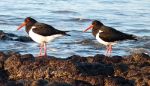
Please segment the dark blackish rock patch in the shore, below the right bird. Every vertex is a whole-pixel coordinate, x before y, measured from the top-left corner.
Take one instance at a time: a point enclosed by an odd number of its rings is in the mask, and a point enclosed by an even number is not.
[[[113,66],[108,66],[106,64],[101,63],[78,63],[77,69],[79,70],[79,73],[82,73],[84,75],[113,75],[114,69]]]

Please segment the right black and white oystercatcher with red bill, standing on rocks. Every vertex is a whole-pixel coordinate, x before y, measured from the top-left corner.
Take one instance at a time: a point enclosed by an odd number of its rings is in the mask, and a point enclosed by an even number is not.
[[[106,46],[106,55],[110,56],[112,52],[112,45],[122,40],[137,40],[137,37],[131,34],[120,32],[112,27],[105,26],[98,20],[94,20],[84,32],[92,29],[93,35],[97,41]],[[108,55],[109,54],[109,55]]]

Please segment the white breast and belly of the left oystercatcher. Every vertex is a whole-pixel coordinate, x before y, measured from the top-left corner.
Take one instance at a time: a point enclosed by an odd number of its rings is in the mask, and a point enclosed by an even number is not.
[[[33,26],[31,28],[31,30],[29,31],[29,36],[32,38],[32,40],[34,40],[37,43],[53,41],[54,39],[63,36],[62,34],[56,34],[56,35],[51,35],[51,36],[42,36],[37,33],[34,33],[32,30],[33,28],[36,28],[36,27]]]

